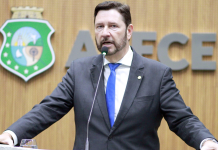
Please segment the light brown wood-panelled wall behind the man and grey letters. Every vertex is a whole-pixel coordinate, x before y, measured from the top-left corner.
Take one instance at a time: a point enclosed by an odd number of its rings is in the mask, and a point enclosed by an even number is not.
[[[66,73],[65,63],[79,30],[89,30],[94,42],[93,10],[101,0],[0,0],[0,25],[11,18],[13,6],[43,7],[43,18],[54,27],[51,43],[56,61],[48,71],[25,83],[19,77],[0,66],[0,132],[28,112],[35,104],[49,95]],[[218,74],[217,71],[191,70],[192,33],[217,33],[218,1],[216,0],[123,0],[131,7],[135,31],[156,31],[157,40],[145,44],[154,46],[157,60],[157,46],[167,34],[179,32],[188,36],[186,45],[172,44],[169,56],[172,60],[185,58],[189,67],[173,72],[174,80],[185,103],[205,126],[218,138]],[[0,35],[0,45],[3,37]],[[218,61],[217,42],[205,43],[212,46],[213,56],[204,58]],[[159,130],[161,150],[191,150],[174,133],[169,131],[165,121]],[[39,148],[70,150],[75,136],[74,114],[70,111],[63,119],[39,134],[36,139]]]

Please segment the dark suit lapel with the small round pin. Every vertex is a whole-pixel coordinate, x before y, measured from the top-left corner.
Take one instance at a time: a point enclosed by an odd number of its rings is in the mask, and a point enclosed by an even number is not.
[[[143,70],[144,66],[142,65],[141,56],[133,50],[133,60],[132,65],[130,67],[129,78],[123,96],[123,101],[120,106],[120,110],[115,120],[115,123],[110,131],[110,134],[113,133],[114,130],[120,125],[128,110],[130,109],[135,95],[138,91],[138,88],[141,84],[141,81],[143,79]]]

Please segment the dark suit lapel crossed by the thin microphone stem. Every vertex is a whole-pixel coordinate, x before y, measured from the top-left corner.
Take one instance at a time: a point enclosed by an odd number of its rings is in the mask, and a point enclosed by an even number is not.
[[[90,70],[94,91],[96,90],[96,87],[97,87],[102,63],[103,63],[102,55],[97,56],[96,59],[93,60],[93,66]],[[107,104],[106,104],[106,99],[105,99],[105,90],[104,90],[104,71],[102,71],[101,80],[100,80],[97,95],[96,95],[96,102],[101,110],[101,114],[104,117],[107,127],[110,129],[110,121],[108,117]]]

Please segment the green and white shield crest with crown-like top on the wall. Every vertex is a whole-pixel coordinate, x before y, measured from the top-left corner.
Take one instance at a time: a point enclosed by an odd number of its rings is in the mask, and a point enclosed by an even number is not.
[[[12,11],[12,18],[21,19],[7,20],[0,28],[4,36],[0,63],[27,82],[54,64],[55,54],[50,43],[54,29],[48,21],[41,20],[42,8],[13,7]]]

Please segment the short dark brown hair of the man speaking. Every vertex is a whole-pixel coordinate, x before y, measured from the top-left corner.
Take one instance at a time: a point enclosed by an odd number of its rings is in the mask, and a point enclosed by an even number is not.
[[[115,1],[105,1],[98,4],[95,7],[94,22],[95,22],[95,17],[97,16],[100,10],[110,10],[110,9],[117,10],[123,16],[123,21],[126,24],[126,27],[128,27],[129,24],[131,24],[132,19],[130,14],[130,7],[126,4],[121,4]]]

